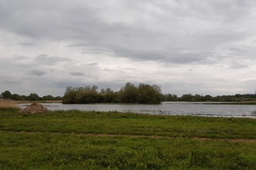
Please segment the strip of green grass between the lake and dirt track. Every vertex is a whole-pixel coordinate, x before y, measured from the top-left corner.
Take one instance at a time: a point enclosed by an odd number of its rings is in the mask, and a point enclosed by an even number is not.
[[[0,109],[0,131],[256,139],[256,120],[251,118],[164,116],[79,110],[17,114],[17,109],[3,110],[6,109]]]

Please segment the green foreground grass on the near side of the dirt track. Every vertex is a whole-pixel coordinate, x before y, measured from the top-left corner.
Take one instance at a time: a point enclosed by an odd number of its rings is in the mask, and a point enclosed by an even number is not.
[[[254,169],[251,143],[0,132],[2,169]]]

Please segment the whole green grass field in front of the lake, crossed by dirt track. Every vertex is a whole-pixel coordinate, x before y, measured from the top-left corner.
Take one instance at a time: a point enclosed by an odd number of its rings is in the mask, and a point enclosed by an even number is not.
[[[255,169],[256,120],[0,107],[2,169]]]

